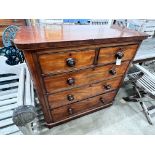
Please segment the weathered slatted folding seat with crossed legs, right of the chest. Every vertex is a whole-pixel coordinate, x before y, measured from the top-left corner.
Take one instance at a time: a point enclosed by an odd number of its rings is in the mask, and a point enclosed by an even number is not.
[[[139,102],[149,124],[153,125],[152,117],[153,114],[155,114],[155,106],[147,107],[145,102],[142,101],[142,98],[144,97],[144,94],[146,94],[152,99],[155,99],[155,76],[144,67],[140,65],[135,66],[140,71],[128,74],[128,84],[130,83],[133,85],[137,95],[124,97],[123,99],[125,101]]]

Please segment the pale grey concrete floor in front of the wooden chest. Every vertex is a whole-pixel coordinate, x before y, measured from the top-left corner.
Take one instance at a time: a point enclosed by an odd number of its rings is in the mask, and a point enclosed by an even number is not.
[[[138,103],[121,103],[122,96],[132,92],[121,88],[114,105],[68,123],[54,127],[42,134],[51,135],[153,135],[155,123],[149,125]],[[155,118],[154,118],[155,120]],[[154,121],[155,122],[155,121]]]

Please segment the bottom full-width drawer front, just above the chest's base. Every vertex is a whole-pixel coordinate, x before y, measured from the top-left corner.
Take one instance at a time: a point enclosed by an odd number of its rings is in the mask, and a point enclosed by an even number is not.
[[[99,95],[93,98],[73,103],[68,106],[63,106],[52,110],[54,122],[75,116],[80,113],[88,112],[89,110],[110,105],[116,95],[116,91]]]

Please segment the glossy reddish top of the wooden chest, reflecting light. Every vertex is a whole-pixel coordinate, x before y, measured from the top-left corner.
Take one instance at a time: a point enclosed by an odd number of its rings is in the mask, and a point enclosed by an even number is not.
[[[63,44],[72,42],[106,43],[120,41],[143,40],[145,33],[103,25],[46,25],[46,26],[21,26],[17,32],[14,43],[21,49],[37,49],[49,44]],[[31,45],[31,46],[29,46]]]

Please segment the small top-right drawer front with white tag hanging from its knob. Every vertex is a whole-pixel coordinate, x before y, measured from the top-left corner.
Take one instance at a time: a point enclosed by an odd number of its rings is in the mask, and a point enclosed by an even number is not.
[[[114,63],[118,57],[122,58],[122,61],[131,60],[135,55],[137,48],[138,45],[101,48],[98,64]]]

